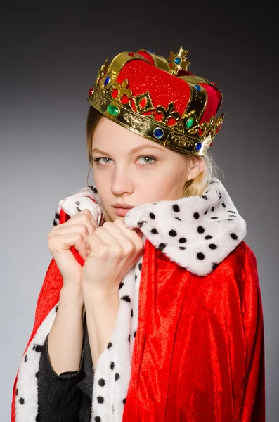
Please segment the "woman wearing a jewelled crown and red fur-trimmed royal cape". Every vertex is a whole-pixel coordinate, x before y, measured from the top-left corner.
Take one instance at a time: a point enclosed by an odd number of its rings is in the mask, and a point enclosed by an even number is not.
[[[265,420],[257,262],[207,153],[221,91],[187,53],[98,72],[94,185],[58,204],[12,421]]]

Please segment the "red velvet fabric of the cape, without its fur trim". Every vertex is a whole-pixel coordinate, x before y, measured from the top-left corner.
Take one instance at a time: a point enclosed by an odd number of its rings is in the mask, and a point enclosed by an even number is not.
[[[60,222],[65,219],[62,210]],[[83,265],[78,252],[72,252]],[[27,347],[58,302],[62,285],[52,259]],[[122,421],[265,421],[261,292],[257,261],[244,241],[209,275],[197,276],[146,239]]]

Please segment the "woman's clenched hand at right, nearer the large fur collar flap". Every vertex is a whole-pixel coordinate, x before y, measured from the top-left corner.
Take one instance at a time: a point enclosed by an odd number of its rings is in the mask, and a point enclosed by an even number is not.
[[[123,218],[105,222],[86,238],[87,258],[82,269],[84,298],[117,294],[119,283],[143,250],[141,232],[124,226]]]

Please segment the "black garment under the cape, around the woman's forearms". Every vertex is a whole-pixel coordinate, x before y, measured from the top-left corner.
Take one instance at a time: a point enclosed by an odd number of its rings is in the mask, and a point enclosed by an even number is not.
[[[84,316],[84,340],[78,371],[58,375],[48,356],[48,335],[41,352],[37,422],[91,422],[93,366]]]

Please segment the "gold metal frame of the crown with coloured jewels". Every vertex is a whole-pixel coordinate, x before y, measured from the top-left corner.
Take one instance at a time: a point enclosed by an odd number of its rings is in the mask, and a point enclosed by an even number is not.
[[[188,51],[181,47],[179,53],[174,54],[171,51],[169,58],[165,59],[148,51],[157,68],[174,76],[177,76],[179,70],[187,70],[190,64],[186,61],[187,53]],[[173,102],[170,102],[167,108],[160,105],[155,107],[149,91],[133,96],[128,79],[124,79],[122,84],[117,82],[116,79],[123,66],[135,59],[144,60],[150,64],[140,54],[129,51],[119,53],[110,65],[108,65],[108,58],[105,60],[98,70],[94,87],[89,90],[87,99],[91,106],[110,120],[163,146],[181,153],[205,155],[209,146],[212,145],[212,139],[219,132],[223,114],[218,118],[212,116],[208,122],[200,123],[202,113],[207,106],[207,91],[200,83],[206,83],[218,89],[216,85],[196,75],[178,76],[184,79],[191,89],[190,101],[185,113],[181,116],[174,110]],[[114,97],[112,92],[115,90],[117,90],[117,95]],[[126,98],[125,103],[122,102],[123,98]],[[136,111],[131,107],[132,102]],[[145,112],[150,112],[150,114],[143,115]],[[153,113],[162,113],[162,120],[157,121]],[[167,124],[170,118],[175,120],[172,125]]]

